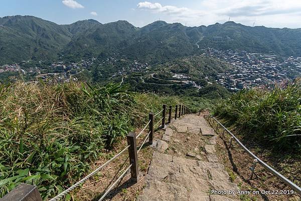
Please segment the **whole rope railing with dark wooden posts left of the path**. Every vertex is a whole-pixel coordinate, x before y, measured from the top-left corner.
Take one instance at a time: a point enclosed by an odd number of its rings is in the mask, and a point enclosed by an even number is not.
[[[181,110],[182,107],[182,110]],[[173,109],[175,110],[175,113],[172,114]],[[178,111],[179,109],[179,111]],[[185,111],[183,111],[183,109],[185,109]],[[167,113],[168,111],[168,113]],[[96,173],[98,173],[101,169],[103,169],[105,166],[107,166],[110,162],[112,162],[114,159],[116,159],[118,156],[120,156],[122,153],[124,153],[126,150],[128,150],[128,157],[130,164],[129,166],[122,172],[122,174],[115,180],[115,182],[110,185],[105,192],[103,193],[103,195],[101,196],[101,198],[99,199],[99,201],[102,201],[107,194],[113,189],[113,187],[126,175],[126,172],[131,169],[130,173],[131,173],[131,179],[134,182],[137,182],[138,180],[138,161],[137,161],[137,154],[140,152],[140,150],[142,149],[142,147],[144,146],[144,144],[146,143],[146,140],[148,138],[148,142],[149,144],[153,144],[153,138],[154,138],[154,127],[156,127],[159,123],[162,122],[161,128],[165,128],[166,126],[166,118],[168,118],[167,124],[171,123],[171,119],[172,116],[175,120],[177,120],[177,118],[182,117],[185,114],[188,114],[189,109],[184,106],[184,105],[176,105],[176,107],[172,107],[169,106],[167,108],[167,105],[163,105],[163,109],[159,112],[157,112],[155,115],[153,112],[149,113],[149,120],[146,123],[146,125],[143,127],[143,129],[138,133],[138,135],[136,135],[133,132],[129,132],[128,135],[126,136],[127,138],[127,146],[125,148],[123,148],[120,152],[118,152],[116,155],[114,155],[111,159],[107,160],[105,163],[103,163],[102,165],[98,166],[94,171],[92,171],[91,173],[89,173],[87,176],[85,176],[84,178],[80,179],[78,182],[76,182],[75,184],[73,184],[72,186],[70,186],[69,188],[65,189],[64,191],[60,192],[58,195],[56,195],[55,197],[49,199],[49,201],[58,201],[61,198],[63,198],[64,196],[66,196],[69,192],[71,192],[72,190],[74,190],[75,188],[79,187],[81,184],[83,184],[85,181],[87,181],[90,177],[94,176]],[[156,123],[154,124],[154,119],[156,116],[158,116],[159,114],[162,114],[162,118]],[[179,116],[178,116],[179,114]],[[143,141],[141,143],[140,146],[136,145],[136,139],[138,137],[140,137],[142,135],[142,133],[145,131],[145,129],[148,127],[148,133],[146,134],[146,136],[143,138]],[[160,127],[159,127],[160,128]],[[157,129],[157,128],[156,128]],[[123,165],[125,164],[127,158],[125,159]],[[121,168],[124,169],[123,165],[121,166]],[[115,179],[115,177],[122,171],[121,168],[119,170],[117,170],[116,175],[113,177],[112,180]],[[29,184],[24,184],[24,185],[29,185]],[[33,185],[29,185],[30,187],[27,189],[31,189],[32,191],[34,191],[35,193],[28,193],[28,192],[24,192],[24,194],[26,194],[26,196],[24,197],[29,198],[29,199],[34,199],[37,200],[37,197],[41,198],[41,195],[39,193],[39,190],[33,190],[34,188],[36,188],[36,186]],[[20,189],[17,189],[18,186],[15,188],[16,191],[14,192],[15,189],[13,189],[11,192],[12,194],[16,194],[16,193],[20,193]],[[10,200],[10,201],[17,201],[15,199]],[[41,199],[38,199],[38,201],[42,201]]]

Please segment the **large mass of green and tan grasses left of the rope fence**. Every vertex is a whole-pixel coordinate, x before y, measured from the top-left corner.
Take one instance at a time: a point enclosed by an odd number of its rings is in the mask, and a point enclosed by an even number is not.
[[[163,103],[178,99],[119,84],[0,85],[0,196],[25,182],[52,197]]]

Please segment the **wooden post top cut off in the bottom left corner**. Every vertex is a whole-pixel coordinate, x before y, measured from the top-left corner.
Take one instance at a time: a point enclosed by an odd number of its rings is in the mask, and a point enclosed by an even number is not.
[[[21,183],[8,194],[1,198],[1,201],[42,201],[37,186]]]

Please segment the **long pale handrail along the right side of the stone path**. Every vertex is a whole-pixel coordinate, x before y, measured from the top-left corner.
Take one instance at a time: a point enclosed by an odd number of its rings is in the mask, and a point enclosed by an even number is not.
[[[267,169],[273,175],[275,175],[280,180],[282,180],[284,183],[286,183],[287,185],[289,185],[292,189],[294,189],[299,194],[301,194],[301,188],[299,186],[297,186],[295,183],[293,183],[292,181],[290,181],[288,178],[286,178],[285,176],[283,176],[282,174],[280,174],[279,172],[277,172],[276,170],[274,170],[272,167],[270,167],[268,164],[266,164],[265,162],[263,162],[260,158],[258,158],[247,147],[245,147],[239,141],[239,139],[237,137],[235,137],[235,135],[232,134],[231,131],[229,131],[223,124],[221,124],[214,116],[210,116],[210,117],[213,118],[224,130],[226,130],[233,137],[233,139],[239,144],[239,146],[241,146],[252,158],[257,159],[258,163],[260,163],[265,169]]]

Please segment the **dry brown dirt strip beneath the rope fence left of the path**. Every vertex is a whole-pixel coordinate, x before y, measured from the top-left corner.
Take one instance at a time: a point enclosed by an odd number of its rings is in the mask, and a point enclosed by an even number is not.
[[[139,133],[137,130],[136,133]],[[162,138],[164,131],[157,130],[154,134],[154,138]],[[141,136],[137,139],[137,146],[142,144],[147,133],[144,131]],[[147,142],[147,140],[146,140]],[[96,169],[112,156],[122,150],[127,146],[126,139],[123,139],[121,143],[118,144],[112,151],[107,152],[101,157],[91,169]],[[139,168],[139,180],[138,183],[133,183],[130,180],[130,173],[127,172],[126,175],[121,179],[121,181],[114,187],[110,193],[104,198],[104,200],[136,200],[137,196],[143,189],[145,182],[144,177],[147,173],[147,169],[150,161],[152,160],[154,149],[150,148],[146,143],[140,152],[138,153],[138,168]],[[113,160],[107,166],[100,170],[100,172],[94,177],[86,181],[83,186],[71,194],[71,200],[76,201],[98,201],[103,195],[105,189],[107,189],[119,176],[120,174],[129,166],[128,152],[125,151],[118,158]],[[133,185],[134,184],[134,185]]]

